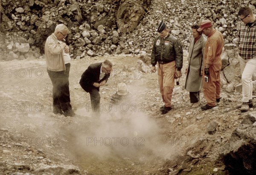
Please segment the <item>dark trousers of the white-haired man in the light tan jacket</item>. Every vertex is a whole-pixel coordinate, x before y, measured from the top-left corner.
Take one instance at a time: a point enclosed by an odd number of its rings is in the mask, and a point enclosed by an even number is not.
[[[47,70],[48,75],[52,81],[52,99],[53,110],[60,112],[68,112],[72,110],[70,104],[70,91],[69,91],[69,72],[70,63],[65,64],[66,71],[50,71]]]

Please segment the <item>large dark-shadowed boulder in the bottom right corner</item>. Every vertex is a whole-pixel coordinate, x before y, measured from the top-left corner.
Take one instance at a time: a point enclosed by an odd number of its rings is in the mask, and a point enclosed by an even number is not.
[[[256,174],[256,114],[247,114],[233,131],[220,155],[230,174]]]

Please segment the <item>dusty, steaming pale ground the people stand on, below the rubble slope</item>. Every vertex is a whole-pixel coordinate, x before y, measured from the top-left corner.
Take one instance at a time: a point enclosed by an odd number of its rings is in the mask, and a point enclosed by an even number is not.
[[[107,85],[100,90],[101,118],[94,120],[88,108],[90,97],[78,81],[89,64],[105,59],[114,67]],[[229,148],[233,130],[246,115],[255,116],[255,109],[241,113],[235,109],[241,93],[225,91],[217,107],[209,111],[190,109],[183,75],[174,89],[173,109],[161,115],[157,74],[141,72],[138,60],[131,55],[72,60],[71,103],[78,114],[74,118],[51,112],[52,85],[45,60],[2,62],[0,172],[228,174],[219,155]],[[127,83],[134,95],[129,110],[126,105],[117,110],[108,107],[119,82]],[[201,102],[206,102],[202,93]]]

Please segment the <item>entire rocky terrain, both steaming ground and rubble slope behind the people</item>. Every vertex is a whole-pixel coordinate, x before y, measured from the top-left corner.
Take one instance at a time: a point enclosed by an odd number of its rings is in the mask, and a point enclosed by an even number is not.
[[[256,150],[256,109],[241,113],[235,108],[241,102],[241,73],[236,58],[237,7],[253,8],[255,3],[2,0],[0,173],[255,174],[255,156],[250,154]],[[205,18],[215,21],[214,26],[225,38],[221,55],[222,99],[209,111],[190,109],[189,93],[183,89],[189,26]],[[184,49],[183,76],[173,92],[173,109],[165,115],[159,112],[163,103],[157,74],[149,73],[150,66],[138,62],[140,58],[148,64],[155,29],[162,19]],[[70,28],[67,44],[73,58],[70,96],[77,114],[74,118],[52,113],[52,84],[42,43],[56,23]],[[89,95],[78,82],[87,66],[105,59],[111,60],[114,67],[101,89],[102,116],[95,120]],[[110,108],[110,97],[120,82],[128,85],[134,104]],[[201,103],[206,103],[203,93]]]

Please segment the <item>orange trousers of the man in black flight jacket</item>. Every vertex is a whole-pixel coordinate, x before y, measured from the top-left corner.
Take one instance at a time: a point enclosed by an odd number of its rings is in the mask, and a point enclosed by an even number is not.
[[[166,64],[158,63],[158,84],[163,103],[166,107],[171,107],[172,91],[174,88],[174,74],[176,72],[175,61]]]

